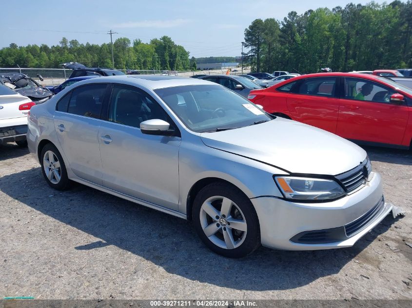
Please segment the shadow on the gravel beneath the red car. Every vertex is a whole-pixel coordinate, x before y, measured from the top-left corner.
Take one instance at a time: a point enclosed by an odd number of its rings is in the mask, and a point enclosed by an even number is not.
[[[362,146],[372,161],[412,165],[412,151],[388,147]]]

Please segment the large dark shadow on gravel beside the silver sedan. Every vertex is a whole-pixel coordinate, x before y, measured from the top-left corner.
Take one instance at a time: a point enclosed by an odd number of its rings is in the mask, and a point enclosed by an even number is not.
[[[31,183],[29,193],[20,189],[22,178]],[[336,274],[394,222],[392,217],[385,218],[352,248],[290,252],[261,247],[245,258],[228,259],[208,250],[191,223],[181,218],[80,184],[58,192],[49,188],[39,167],[0,178],[0,189],[44,215],[99,238],[73,247],[79,253],[115,245],[171,274],[236,290],[290,290]],[[144,271],[143,265],[134,266],[137,272]]]

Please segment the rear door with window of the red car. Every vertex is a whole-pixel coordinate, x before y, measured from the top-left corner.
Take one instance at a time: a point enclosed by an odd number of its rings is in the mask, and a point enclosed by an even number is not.
[[[339,99],[335,95],[336,77],[314,77],[300,82],[287,104],[293,120],[336,132]]]

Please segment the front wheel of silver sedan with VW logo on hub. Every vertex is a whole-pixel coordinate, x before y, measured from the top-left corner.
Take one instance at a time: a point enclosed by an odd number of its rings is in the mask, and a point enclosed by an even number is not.
[[[252,202],[228,183],[212,183],[196,195],[192,211],[196,233],[216,254],[240,258],[260,245]]]

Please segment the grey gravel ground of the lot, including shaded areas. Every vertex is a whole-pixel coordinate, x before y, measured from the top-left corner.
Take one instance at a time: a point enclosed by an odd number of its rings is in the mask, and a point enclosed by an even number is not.
[[[180,218],[79,184],[55,191],[27,149],[0,146],[0,296],[412,299],[412,153],[365,149],[405,217],[386,217],[352,248],[231,260]]]

